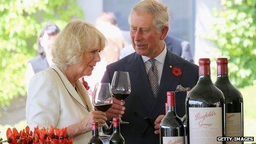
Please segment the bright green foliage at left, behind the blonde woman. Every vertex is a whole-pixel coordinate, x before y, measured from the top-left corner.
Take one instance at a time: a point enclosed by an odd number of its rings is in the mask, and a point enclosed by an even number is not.
[[[36,39],[42,26],[54,22],[63,28],[74,18],[83,18],[74,0],[1,0],[0,108],[26,95],[25,68],[37,55]]]

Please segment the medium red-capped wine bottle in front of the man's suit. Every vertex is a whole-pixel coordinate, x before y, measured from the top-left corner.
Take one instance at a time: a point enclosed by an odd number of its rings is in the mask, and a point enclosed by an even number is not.
[[[184,143],[184,126],[175,112],[175,93],[167,92],[168,113],[160,124],[160,143]]]

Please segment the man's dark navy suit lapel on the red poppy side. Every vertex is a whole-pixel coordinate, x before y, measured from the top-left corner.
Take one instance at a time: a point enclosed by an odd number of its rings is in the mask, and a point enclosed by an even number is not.
[[[159,84],[159,91],[156,100],[151,109],[151,118],[156,119],[162,111],[164,111],[165,103],[167,101],[166,93],[174,91],[180,81],[180,76],[174,76],[172,67],[179,67],[182,69],[183,64],[179,63],[175,56],[167,51],[166,59],[164,60],[163,72],[161,82]]]

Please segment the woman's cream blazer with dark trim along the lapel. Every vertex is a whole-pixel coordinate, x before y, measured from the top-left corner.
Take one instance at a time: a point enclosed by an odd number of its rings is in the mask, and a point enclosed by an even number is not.
[[[63,128],[86,117],[93,110],[92,103],[81,82],[76,82],[76,88],[81,97],[56,66],[36,73],[29,83],[26,100],[26,121],[30,129],[34,130],[37,125]],[[91,132],[87,132],[74,138],[73,142],[88,143],[91,136]]]

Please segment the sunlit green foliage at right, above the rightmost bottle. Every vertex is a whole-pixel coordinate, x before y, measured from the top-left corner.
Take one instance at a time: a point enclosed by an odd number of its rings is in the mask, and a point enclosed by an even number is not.
[[[212,40],[222,56],[228,57],[229,76],[238,87],[256,83],[256,1],[222,0]]]

